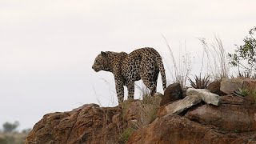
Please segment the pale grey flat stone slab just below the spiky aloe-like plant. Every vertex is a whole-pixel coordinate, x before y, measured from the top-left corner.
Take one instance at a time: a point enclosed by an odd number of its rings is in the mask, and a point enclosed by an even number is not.
[[[202,98],[202,101],[206,102],[207,104],[212,104],[215,106],[220,105],[219,95],[211,93],[210,90],[188,88],[186,90],[186,95],[198,95]]]

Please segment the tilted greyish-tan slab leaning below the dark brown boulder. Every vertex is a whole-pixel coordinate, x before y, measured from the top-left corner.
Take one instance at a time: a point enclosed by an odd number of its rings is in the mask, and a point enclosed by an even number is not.
[[[201,101],[202,98],[198,95],[188,95],[182,100],[160,107],[158,110],[158,118],[161,118],[166,114],[180,114],[182,111],[198,104]]]

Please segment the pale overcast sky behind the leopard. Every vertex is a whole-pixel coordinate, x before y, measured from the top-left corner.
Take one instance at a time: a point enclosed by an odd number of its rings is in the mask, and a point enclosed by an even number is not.
[[[0,127],[18,121],[20,130],[32,128],[44,114],[86,103],[116,106],[113,74],[91,69],[101,51],[150,46],[168,65],[163,35],[175,58],[190,54],[193,73],[202,57],[198,38],[216,36],[233,52],[255,26],[254,6],[254,0],[0,0]]]

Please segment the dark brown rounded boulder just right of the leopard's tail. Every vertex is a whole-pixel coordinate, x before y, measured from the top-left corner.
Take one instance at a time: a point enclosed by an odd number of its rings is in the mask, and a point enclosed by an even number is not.
[[[166,88],[162,100],[160,102],[160,106],[164,106],[178,99],[182,99],[182,87],[180,86],[179,83],[173,83]]]

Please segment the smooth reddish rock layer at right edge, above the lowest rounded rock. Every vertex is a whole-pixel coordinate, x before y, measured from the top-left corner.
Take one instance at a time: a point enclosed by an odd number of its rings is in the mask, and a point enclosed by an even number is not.
[[[256,131],[256,107],[226,105],[200,106],[190,110],[185,117],[203,125],[217,126],[226,131]]]

